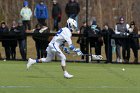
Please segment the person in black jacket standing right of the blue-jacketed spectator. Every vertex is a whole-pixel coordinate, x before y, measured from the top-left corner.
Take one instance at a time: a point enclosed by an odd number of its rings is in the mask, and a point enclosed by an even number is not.
[[[54,20],[53,30],[58,31],[59,30],[58,23],[61,21],[61,8],[57,0],[53,0],[52,18]]]

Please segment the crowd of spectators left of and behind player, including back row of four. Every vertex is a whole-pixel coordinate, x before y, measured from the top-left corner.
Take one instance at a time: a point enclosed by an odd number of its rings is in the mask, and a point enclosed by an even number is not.
[[[73,12],[73,10],[75,12]],[[76,2],[76,0],[69,0],[66,5],[65,11],[68,18],[70,16],[74,18],[77,17],[78,13],[80,12],[80,6],[78,2]],[[19,46],[22,60],[27,59],[26,32],[31,31],[31,19],[33,16],[37,20],[37,24],[33,29],[33,40],[35,41],[37,52],[36,58],[46,57],[46,47],[49,43],[49,36],[46,37],[45,35],[47,35],[47,33],[50,33],[50,28],[46,23],[46,20],[48,20],[49,18],[49,14],[48,7],[45,4],[44,0],[39,0],[39,2],[35,5],[34,12],[29,7],[28,0],[24,0],[23,7],[21,8],[19,14],[21,16],[20,20],[13,20],[11,26],[4,21],[0,24],[0,41],[2,42],[2,47],[5,50],[4,58],[6,58],[7,60],[16,59],[16,47]],[[52,0],[51,15],[53,19],[53,31],[58,31],[59,23],[62,17],[62,10],[57,0]]]

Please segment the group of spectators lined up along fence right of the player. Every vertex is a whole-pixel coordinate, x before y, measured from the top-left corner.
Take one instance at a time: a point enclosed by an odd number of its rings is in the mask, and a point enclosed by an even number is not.
[[[95,48],[95,54],[101,55],[101,47],[103,44],[105,45],[105,63],[112,62],[112,55],[114,52],[116,52],[115,62],[129,63],[130,49],[132,49],[134,54],[133,63],[138,63],[138,50],[140,45],[138,28],[134,21],[127,24],[124,17],[120,17],[119,22],[115,25],[114,29],[110,28],[108,23],[105,23],[103,29],[101,29],[95,19],[87,28],[86,21],[84,21],[80,28],[80,33],[84,35],[78,38],[77,43],[80,44],[80,48],[83,53],[87,53],[86,44],[88,43],[86,40],[88,37],[91,54],[92,48]],[[81,59],[84,59],[84,56],[82,56]],[[97,59],[98,62],[99,60],[100,59]]]

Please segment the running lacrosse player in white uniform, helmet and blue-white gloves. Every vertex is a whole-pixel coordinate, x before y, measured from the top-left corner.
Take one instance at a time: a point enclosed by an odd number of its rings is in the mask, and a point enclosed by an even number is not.
[[[67,42],[70,50],[74,51],[79,56],[83,55],[83,53],[78,48],[75,48],[74,45],[72,44],[72,40],[71,40],[72,31],[75,31],[76,28],[77,28],[77,22],[74,19],[69,18],[67,20],[67,26],[61,28],[49,43],[46,49],[47,57],[41,59],[29,58],[27,63],[27,69],[29,69],[35,63],[51,61],[54,55],[56,54],[61,60],[61,67],[62,70],[64,71],[64,77],[72,78],[73,75],[69,74],[66,70],[66,56],[60,50],[60,46],[62,46],[64,42]],[[69,53],[68,51],[69,49],[63,46],[63,50],[65,52]]]

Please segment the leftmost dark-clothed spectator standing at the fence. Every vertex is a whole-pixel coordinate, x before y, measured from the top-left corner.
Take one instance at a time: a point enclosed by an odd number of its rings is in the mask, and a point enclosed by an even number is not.
[[[7,27],[5,22],[2,22],[0,25],[0,33],[2,35],[2,46],[5,49],[6,59],[9,60],[10,59],[10,47],[8,40],[9,28]]]

